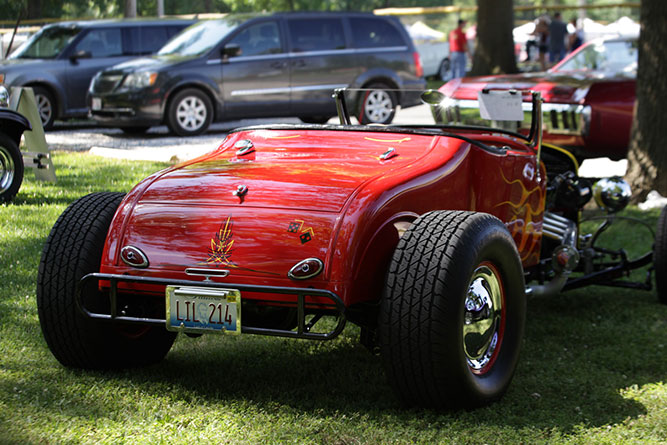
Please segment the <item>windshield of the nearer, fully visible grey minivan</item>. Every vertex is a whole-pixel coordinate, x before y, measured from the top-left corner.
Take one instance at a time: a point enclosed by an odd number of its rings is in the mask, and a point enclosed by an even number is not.
[[[204,20],[196,23],[167,42],[158,51],[160,56],[200,56],[209,52],[236,23],[225,20]]]

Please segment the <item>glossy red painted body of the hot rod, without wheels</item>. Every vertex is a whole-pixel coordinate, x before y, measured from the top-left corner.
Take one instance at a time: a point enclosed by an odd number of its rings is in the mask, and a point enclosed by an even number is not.
[[[313,286],[349,306],[379,297],[398,242],[394,223],[443,209],[497,216],[524,266],[534,265],[545,193],[535,153],[501,135],[464,136],[510,149],[496,154],[455,137],[345,127],[237,131],[214,152],[158,172],[127,195],[101,272],[191,279],[187,267],[219,267],[230,274],[214,281]],[[252,160],[236,156],[242,139],[255,146]],[[381,160],[388,147],[399,155]],[[240,183],[249,187],[242,202],[232,195]],[[120,260],[128,244],[146,254],[149,268]],[[323,273],[291,281],[289,270],[306,258],[321,259]]]

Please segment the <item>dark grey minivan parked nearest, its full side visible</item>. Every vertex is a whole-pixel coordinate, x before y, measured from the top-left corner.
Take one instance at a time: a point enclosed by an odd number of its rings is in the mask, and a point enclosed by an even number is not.
[[[100,124],[136,132],[166,123],[178,135],[212,121],[298,116],[326,122],[339,87],[370,88],[362,123],[389,123],[395,106],[415,105],[406,90],[425,86],[421,63],[394,17],[364,13],[227,16],[197,23],[155,56],[106,69],[89,105]]]

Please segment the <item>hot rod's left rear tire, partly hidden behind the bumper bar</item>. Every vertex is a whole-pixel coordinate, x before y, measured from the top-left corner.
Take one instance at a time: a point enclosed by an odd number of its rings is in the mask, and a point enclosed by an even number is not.
[[[88,319],[78,310],[79,280],[98,272],[111,220],[122,193],[93,193],[72,203],[58,218],[44,245],[37,275],[37,310],[44,339],[64,366],[108,369],[156,363],[175,334],[162,327],[138,329]],[[104,305],[97,288],[86,304]]]

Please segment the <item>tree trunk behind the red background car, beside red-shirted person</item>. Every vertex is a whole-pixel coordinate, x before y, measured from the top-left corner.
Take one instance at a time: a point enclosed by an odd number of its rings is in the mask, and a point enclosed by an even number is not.
[[[477,0],[477,41],[470,75],[516,73],[512,0]]]

